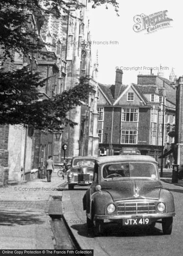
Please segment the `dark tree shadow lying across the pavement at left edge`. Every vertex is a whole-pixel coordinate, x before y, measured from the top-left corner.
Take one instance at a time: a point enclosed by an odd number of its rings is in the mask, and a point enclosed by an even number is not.
[[[43,215],[34,211],[0,210],[0,226],[42,224]]]

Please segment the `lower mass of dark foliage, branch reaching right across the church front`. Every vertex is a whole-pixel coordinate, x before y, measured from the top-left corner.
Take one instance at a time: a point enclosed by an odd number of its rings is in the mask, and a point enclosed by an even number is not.
[[[41,74],[26,69],[0,72],[0,124],[26,124],[35,128],[59,129],[76,125],[67,113],[88,98],[92,86],[88,77],[80,78],[73,89],[50,99],[39,99],[39,88],[45,85]]]

